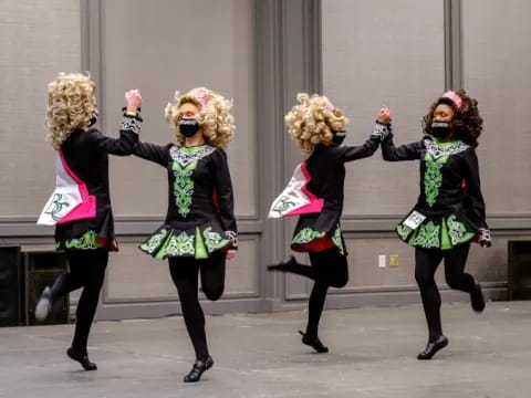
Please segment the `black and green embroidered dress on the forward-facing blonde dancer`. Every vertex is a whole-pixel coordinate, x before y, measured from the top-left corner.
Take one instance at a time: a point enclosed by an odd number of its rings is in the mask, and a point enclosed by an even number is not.
[[[134,154],[165,167],[169,187],[166,220],[139,245],[142,251],[164,260],[208,259],[237,249],[232,182],[222,149],[137,143]]]

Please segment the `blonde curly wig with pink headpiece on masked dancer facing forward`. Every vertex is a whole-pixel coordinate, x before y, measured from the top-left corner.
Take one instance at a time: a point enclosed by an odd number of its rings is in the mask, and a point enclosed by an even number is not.
[[[164,114],[180,145],[185,145],[185,136],[179,130],[179,108],[186,103],[191,103],[199,108],[196,118],[202,128],[205,142],[221,149],[229,146],[236,128],[235,117],[230,114],[232,101],[204,87],[196,87],[185,95],[176,92],[173,104],[166,105]]]

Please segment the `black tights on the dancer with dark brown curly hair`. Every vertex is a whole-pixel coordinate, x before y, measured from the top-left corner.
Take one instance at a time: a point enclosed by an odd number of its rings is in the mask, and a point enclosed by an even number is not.
[[[472,275],[464,272],[470,243],[459,244],[450,250],[415,250],[415,279],[420,289],[424,312],[428,324],[429,341],[442,334],[440,323],[440,294],[435,283],[435,272],[445,260],[445,277],[448,285],[458,291],[470,293],[476,287]]]

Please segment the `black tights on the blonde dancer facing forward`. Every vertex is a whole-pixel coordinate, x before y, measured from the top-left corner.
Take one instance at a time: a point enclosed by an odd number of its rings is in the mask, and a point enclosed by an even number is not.
[[[169,273],[179,294],[183,317],[190,336],[196,358],[208,358],[205,314],[198,297],[198,274],[208,300],[221,297],[225,289],[225,253],[216,252],[209,259],[169,259]]]

